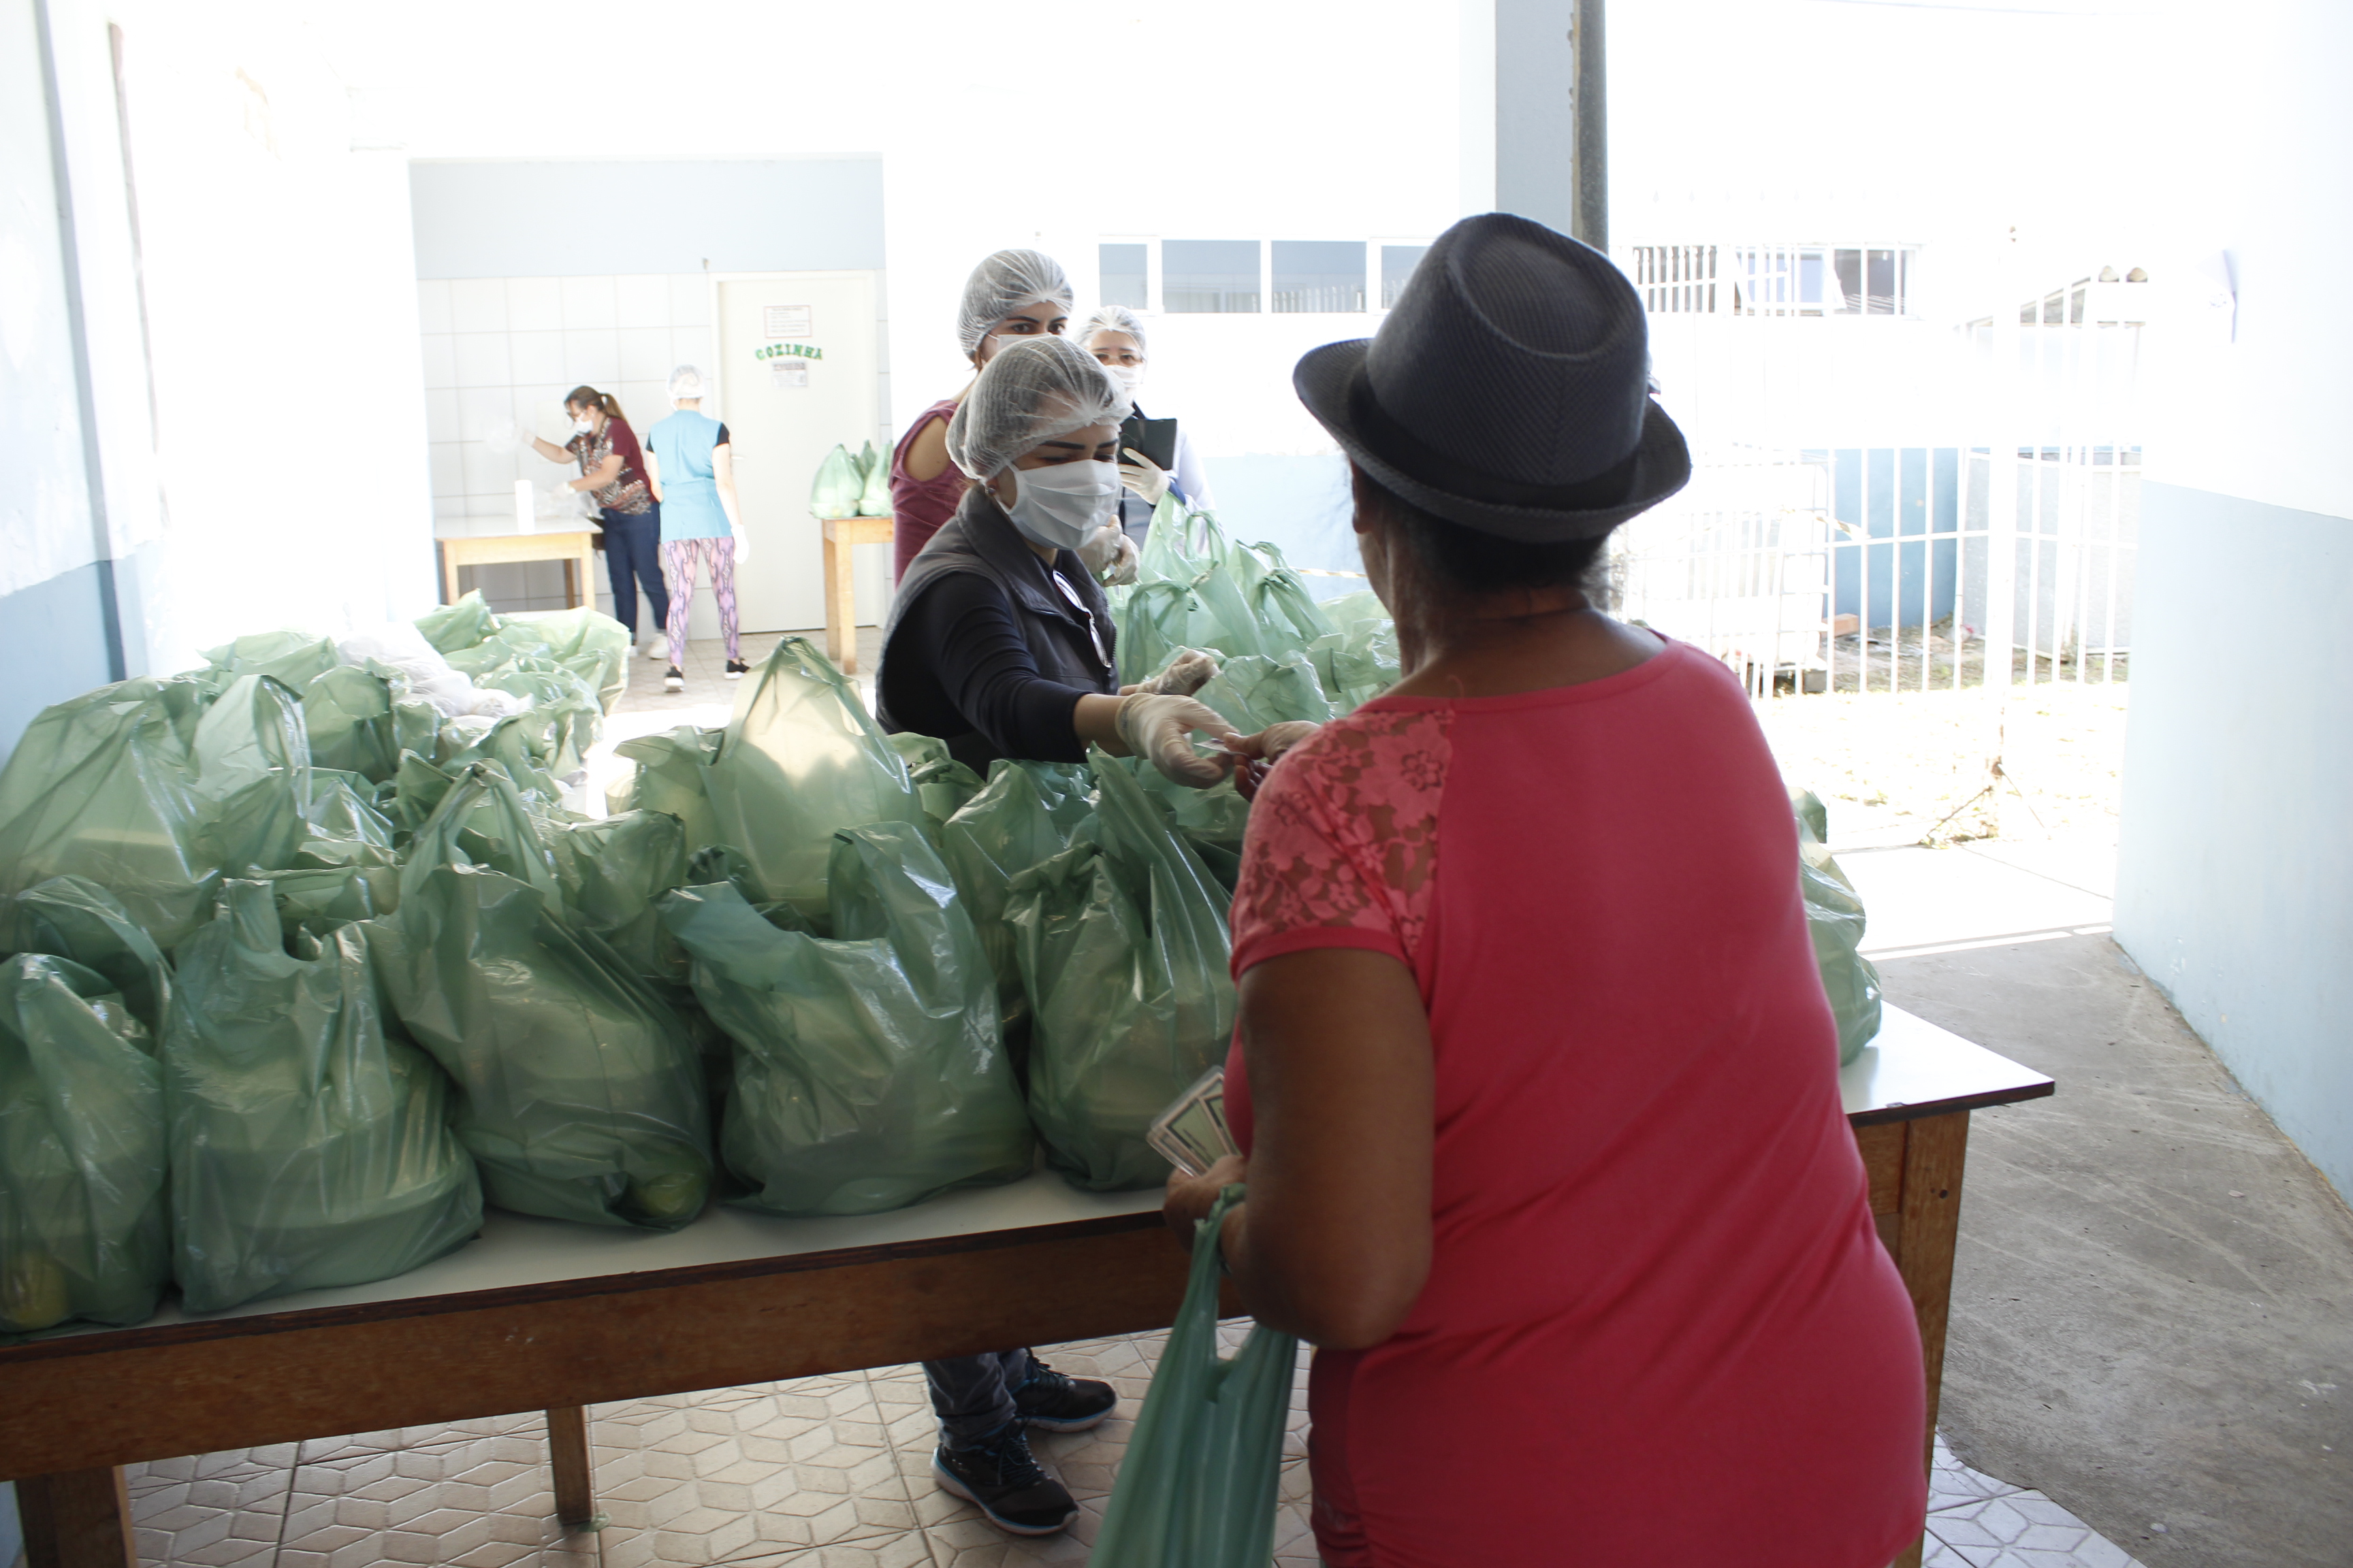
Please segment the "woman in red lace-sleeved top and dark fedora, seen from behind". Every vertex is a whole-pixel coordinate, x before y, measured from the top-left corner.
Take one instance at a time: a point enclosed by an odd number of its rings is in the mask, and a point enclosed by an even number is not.
[[[1332,1568],[1885,1568],[1911,1300],[1748,701],[1586,581],[1689,477],[1598,252],[1457,223],[1299,362],[1405,679],[1297,741],[1233,903],[1245,1305],[1315,1342]],[[1282,736],[1257,743],[1271,752]]]

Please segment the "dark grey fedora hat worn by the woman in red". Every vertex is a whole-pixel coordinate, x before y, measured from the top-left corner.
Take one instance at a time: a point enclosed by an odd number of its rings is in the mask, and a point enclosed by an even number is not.
[[[1607,534],[1692,477],[1633,284],[1508,212],[1438,235],[1381,329],[1308,350],[1292,386],[1384,487],[1520,543]]]

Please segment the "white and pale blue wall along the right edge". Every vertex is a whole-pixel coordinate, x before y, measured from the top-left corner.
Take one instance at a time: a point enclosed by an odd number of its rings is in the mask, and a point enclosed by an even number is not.
[[[2177,252],[2134,602],[2118,940],[2353,1194],[2353,12],[2247,0],[2181,38]]]

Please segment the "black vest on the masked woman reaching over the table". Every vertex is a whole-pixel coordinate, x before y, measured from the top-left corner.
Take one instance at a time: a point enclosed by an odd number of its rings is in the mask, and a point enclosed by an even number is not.
[[[1104,646],[1113,649],[1111,602],[1080,564],[1078,555],[1064,550],[1054,567],[1068,583],[1094,625],[1104,632]],[[885,731],[915,731],[939,736],[948,743],[948,755],[974,773],[988,773],[988,764],[1002,752],[948,701],[936,672],[922,668],[920,656],[899,642],[899,625],[908,609],[922,599],[922,590],[951,574],[969,574],[995,583],[998,592],[1014,611],[1021,642],[1028,644],[1038,675],[1061,686],[1080,691],[1120,691],[1120,672],[1094,654],[1094,637],[1087,632],[1087,616],[1047,576],[1047,564],[1028,548],[1014,529],[1012,517],[986,489],[965,491],[955,517],[941,524],[939,534],[922,545],[922,552],[899,578],[899,597],[892,602],[889,621],[882,628],[882,668],[875,672],[875,719]]]

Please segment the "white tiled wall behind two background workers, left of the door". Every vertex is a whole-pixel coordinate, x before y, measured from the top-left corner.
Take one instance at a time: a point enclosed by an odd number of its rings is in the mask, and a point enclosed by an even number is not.
[[[619,397],[642,437],[671,411],[671,367],[715,369],[701,273],[431,277],[416,284],[416,310],[435,517],[511,517],[515,480],[548,484],[562,473],[529,442],[492,451],[482,437],[499,421],[562,444],[572,435],[562,397],[586,383]],[[482,567],[473,583],[501,609],[562,604],[555,562]]]

